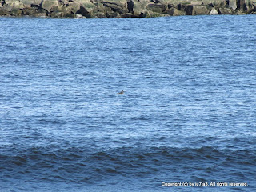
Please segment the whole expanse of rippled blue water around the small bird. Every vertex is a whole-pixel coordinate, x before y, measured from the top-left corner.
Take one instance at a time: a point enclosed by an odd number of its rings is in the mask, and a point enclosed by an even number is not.
[[[255,19],[0,18],[0,191],[255,191]]]

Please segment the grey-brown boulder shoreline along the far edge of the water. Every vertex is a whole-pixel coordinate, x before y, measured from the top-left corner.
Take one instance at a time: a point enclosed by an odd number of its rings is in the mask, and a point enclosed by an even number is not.
[[[256,14],[256,0],[0,0],[1,16],[150,18],[198,14]]]

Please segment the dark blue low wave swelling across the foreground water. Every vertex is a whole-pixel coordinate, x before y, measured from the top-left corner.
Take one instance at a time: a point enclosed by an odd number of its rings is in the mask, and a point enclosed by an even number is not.
[[[25,150],[21,150],[21,146],[4,147],[7,149],[0,155],[2,177],[16,175],[22,178],[26,175],[46,182],[95,184],[120,175],[127,179],[152,179],[156,175],[168,178],[180,171],[191,181],[206,181],[214,174],[223,174],[226,178],[234,174],[234,179],[250,181],[251,174],[247,168],[256,162],[255,150],[220,150],[212,146],[130,146],[108,150],[57,145],[34,146]],[[11,153],[14,150],[17,154]],[[234,167],[245,170],[242,172]],[[223,169],[225,172],[220,172]]]

